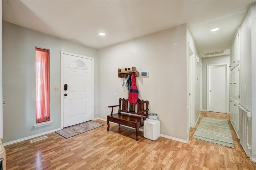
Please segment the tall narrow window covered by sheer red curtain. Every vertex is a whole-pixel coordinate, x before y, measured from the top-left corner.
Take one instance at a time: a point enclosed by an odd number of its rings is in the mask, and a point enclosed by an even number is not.
[[[36,48],[36,123],[50,121],[50,55]]]

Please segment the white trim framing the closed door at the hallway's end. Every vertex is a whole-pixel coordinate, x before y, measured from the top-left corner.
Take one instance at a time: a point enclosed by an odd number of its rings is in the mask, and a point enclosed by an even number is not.
[[[226,113],[229,112],[229,67],[228,67],[228,63],[220,63],[220,64],[207,64],[207,68],[206,68],[206,79],[207,79],[207,84],[206,84],[206,103],[207,103],[207,111],[209,111],[209,67],[211,66],[221,66],[224,65],[226,66]]]

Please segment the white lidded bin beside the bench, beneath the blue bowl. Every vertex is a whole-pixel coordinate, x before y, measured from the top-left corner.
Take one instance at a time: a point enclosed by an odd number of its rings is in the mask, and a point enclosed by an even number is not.
[[[144,138],[148,138],[155,141],[160,137],[160,121],[158,119],[146,119],[144,120]]]

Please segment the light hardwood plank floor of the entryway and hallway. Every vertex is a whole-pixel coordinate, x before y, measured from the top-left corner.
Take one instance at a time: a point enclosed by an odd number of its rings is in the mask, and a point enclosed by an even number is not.
[[[202,112],[200,119],[202,116],[230,119],[224,113]],[[256,168],[240,146],[230,121],[234,149],[193,139],[196,128],[190,130],[188,144],[163,137],[150,141],[143,137],[143,132],[139,133],[139,141],[135,141],[133,129],[110,123],[110,131],[107,131],[105,121],[96,122],[104,126],[69,139],[50,133],[48,139],[36,143],[27,140],[6,146],[7,170]]]

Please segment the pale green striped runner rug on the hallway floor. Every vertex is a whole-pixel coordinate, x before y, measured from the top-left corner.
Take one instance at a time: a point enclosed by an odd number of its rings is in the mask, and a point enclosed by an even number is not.
[[[193,138],[234,148],[228,121],[225,119],[202,117]]]

